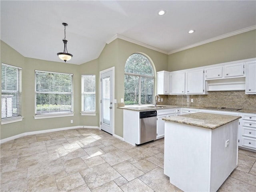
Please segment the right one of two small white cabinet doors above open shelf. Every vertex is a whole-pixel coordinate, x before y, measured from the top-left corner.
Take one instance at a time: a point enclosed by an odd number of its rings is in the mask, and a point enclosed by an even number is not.
[[[244,63],[224,66],[224,77],[244,76]]]

